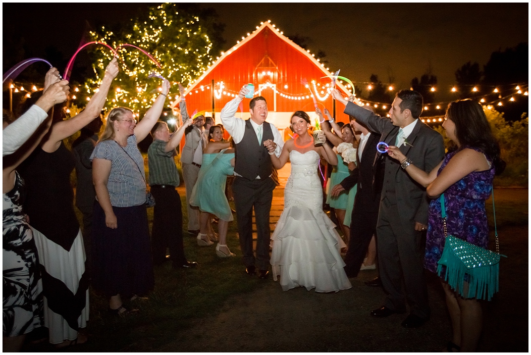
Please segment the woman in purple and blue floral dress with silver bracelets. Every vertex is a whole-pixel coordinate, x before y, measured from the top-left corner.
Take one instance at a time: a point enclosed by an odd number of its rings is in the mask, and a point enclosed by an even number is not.
[[[389,147],[389,156],[401,162],[433,199],[424,259],[424,266],[432,272],[436,272],[445,242],[440,195],[444,193],[448,234],[486,248],[489,227],[485,200],[491,195],[494,173],[501,173],[505,167],[483,107],[477,102],[451,103],[442,126],[456,147],[429,173],[417,168],[397,147]],[[475,351],[482,328],[481,304],[476,298],[462,297],[443,278],[441,283],[452,323],[453,339],[447,350]]]

